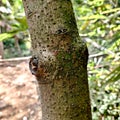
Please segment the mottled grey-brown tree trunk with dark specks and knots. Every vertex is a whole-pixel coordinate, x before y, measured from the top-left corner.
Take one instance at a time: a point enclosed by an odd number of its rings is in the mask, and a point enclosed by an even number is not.
[[[42,120],[91,120],[88,50],[70,0],[23,0],[32,39]]]

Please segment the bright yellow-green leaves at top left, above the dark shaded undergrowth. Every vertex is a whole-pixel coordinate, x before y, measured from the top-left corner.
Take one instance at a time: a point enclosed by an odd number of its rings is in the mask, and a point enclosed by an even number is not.
[[[1,21],[5,20],[5,24],[9,25],[10,30],[0,35],[0,41],[13,37],[21,31],[28,28],[22,0],[3,0],[3,5],[0,7]]]

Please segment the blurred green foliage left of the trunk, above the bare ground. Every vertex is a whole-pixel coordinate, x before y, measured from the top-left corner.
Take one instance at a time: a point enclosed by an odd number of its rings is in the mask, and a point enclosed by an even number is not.
[[[30,44],[30,40],[22,0],[2,0],[0,5],[0,41],[4,40],[5,58],[29,55],[30,45],[28,45],[28,41]],[[16,38],[18,45],[20,45],[17,48],[15,47]],[[14,44],[10,47],[7,43],[11,40],[14,41]],[[23,40],[24,45],[21,44]]]

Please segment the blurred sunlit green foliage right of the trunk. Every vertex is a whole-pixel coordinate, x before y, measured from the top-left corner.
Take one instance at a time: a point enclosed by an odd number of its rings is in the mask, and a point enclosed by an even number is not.
[[[79,33],[89,47],[93,120],[120,119],[120,1],[73,0]]]

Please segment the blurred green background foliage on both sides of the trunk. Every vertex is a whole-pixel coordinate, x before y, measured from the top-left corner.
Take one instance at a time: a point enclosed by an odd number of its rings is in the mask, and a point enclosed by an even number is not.
[[[72,1],[80,37],[89,48],[93,120],[120,120],[120,0]],[[0,1],[0,41],[4,58],[30,55],[21,0]]]

